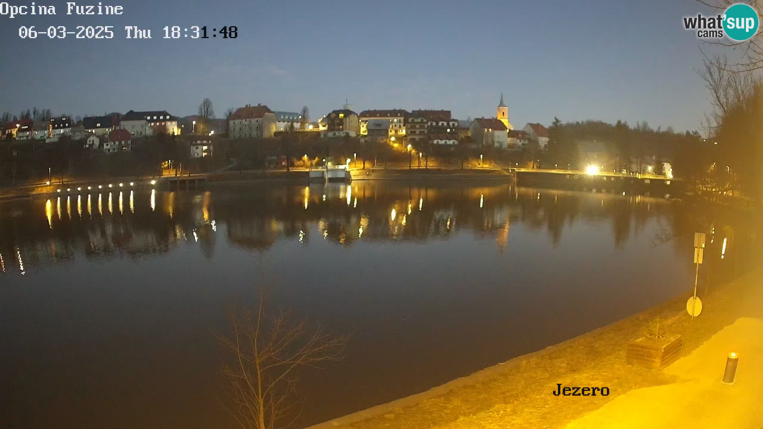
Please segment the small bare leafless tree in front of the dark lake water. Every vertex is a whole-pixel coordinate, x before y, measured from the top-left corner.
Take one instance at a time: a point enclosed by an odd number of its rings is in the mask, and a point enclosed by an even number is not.
[[[256,311],[233,309],[231,322],[230,337],[217,336],[231,357],[223,369],[228,401],[221,404],[242,429],[287,427],[299,416],[299,370],[342,359],[347,337],[291,322],[288,311],[267,315],[262,289]]]

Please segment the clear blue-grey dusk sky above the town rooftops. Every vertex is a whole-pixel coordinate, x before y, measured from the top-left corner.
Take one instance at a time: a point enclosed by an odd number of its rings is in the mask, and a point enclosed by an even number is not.
[[[0,111],[185,116],[209,97],[218,117],[262,103],[307,105],[317,120],[347,98],[355,111],[443,108],[465,119],[494,116],[503,91],[515,127],[558,116],[684,131],[710,108],[694,72],[699,40],[681,24],[707,12],[694,0],[121,1],[103,2],[124,6],[121,16],[66,15],[66,2],[54,0],[36,2],[55,5],[54,16],[0,16]],[[22,25],[113,25],[115,37],[28,40]],[[153,39],[125,39],[125,25],[151,29]],[[166,25],[206,25],[210,35],[236,25],[238,38],[163,39]]]

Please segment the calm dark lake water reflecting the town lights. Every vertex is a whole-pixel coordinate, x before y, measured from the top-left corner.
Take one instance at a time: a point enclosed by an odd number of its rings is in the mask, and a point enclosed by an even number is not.
[[[3,203],[0,427],[230,427],[214,334],[262,269],[270,308],[352,334],[302,373],[297,426],[421,392],[691,289],[691,237],[660,244],[687,210],[380,182]]]

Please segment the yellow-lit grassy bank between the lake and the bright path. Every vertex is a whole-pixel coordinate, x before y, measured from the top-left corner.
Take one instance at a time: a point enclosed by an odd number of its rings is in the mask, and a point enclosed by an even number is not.
[[[665,324],[668,330],[672,329],[684,337],[684,347],[681,350],[681,356],[687,356],[692,350],[703,344],[704,340],[712,337],[713,334],[722,330],[727,324],[733,323],[736,316],[729,318],[728,309],[722,308],[720,303],[726,302],[729,304],[729,307],[736,305],[744,307],[745,303],[740,304],[735,302],[729,298],[729,295],[738,294],[740,292],[739,289],[753,287],[755,277],[761,275],[761,273],[763,273],[763,268],[752,269],[751,272],[739,276],[730,282],[713,287],[713,290],[707,296],[713,303],[713,307],[708,306],[705,309],[705,313],[700,315],[700,318],[697,318],[695,321],[689,321],[690,318],[686,314],[684,304],[687,297],[691,296],[691,291],[683,292],[667,302],[652,306],[644,311],[598,327],[577,337],[572,337],[561,343],[513,357],[510,360],[488,366],[485,369],[453,379],[423,392],[314,424],[307,427],[307,429],[336,427],[343,427],[345,429],[430,426],[438,428],[478,427],[474,424],[468,424],[464,420],[465,416],[479,420],[479,417],[475,416],[485,414],[486,418],[493,418],[493,411],[491,411],[489,404],[486,405],[484,402],[493,400],[496,402],[493,408],[510,408],[509,405],[501,404],[501,398],[505,401],[507,398],[511,398],[512,394],[519,396],[513,402],[525,402],[525,408],[512,409],[513,415],[511,418],[515,418],[515,420],[510,427],[536,427],[533,424],[529,424],[530,421],[528,421],[526,416],[517,415],[520,412],[530,414],[531,418],[536,418],[536,414],[541,412],[548,414],[549,411],[551,413],[550,417],[545,419],[540,418],[538,421],[534,421],[534,423],[542,424],[540,427],[565,427],[570,421],[574,421],[591,411],[603,407],[607,402],[631,390],[674,382],[674,380],[671,380],[670,377],[661,371],[651,371],[626,365],[626,343],[639,337],[638,333],[649,321],[661,318],[662,323]],[[738,308],[735,309],[738,310]],[[713,314],[713,311],[717,311],[717,314]],[[600,350],[602,347],[604,350]],[[583,358],[584,363],[581,366],[563,363],[565,360],[575,360],[575,357],[571,356],[577,356],[579,359],[581,355],[591,355]],[[550,376],[549,366],[555,371]],[[612,375],[613,379],[618,379],[618,382],[623,382],[621,379],[629,379],[624,381],[626,389],[613,388],[612,394],[607,397],[598,398],[595,406],[587,404],[588,406],[578,406],[578,408],[571,410],[564,409],[562,412],[556,412],[549,407],[558,405],[564,408],[565,405],[562,405],[558,400],[557,402],[550,402],[549,398],[546,398],[545,394],[549,394],[551,391],[548,386],[545,386],[544,389],[539,389],[539,385],[542,385],[544,381],[543,379],[551,380],[553,385],[559,382],[563,385],[570,384],[568,383],[570,380],[575,380],[582,385],[594,384],[587,383],[586,381],[581,382],[581,376],[584,379],[590,379],[587,381],[604,380],[607,382],[610,380],[604,374],[607,374],[607,371],[611,372],[612,366],[619,366],[620,369],[617,371],[622,373],[616,372],[616,374]],[[539,374],[542,374],[542,376],[539,376]],[[571,384],[575,385],[575,382]],[[500,393],[494,394],[494,385],[500,385]],[[546,392],[546,390],[549,392]],[[483,401],[474,402],[477,409],[469,408],[468,405],[465,405],[468,404],[468,401],[459,398],[459,395],[462,394],[472,395],[475,393],[481,396]],[[501,395],[501,393],[504,395]],[[510,395],[507,396],[507,393]],[[538,400],[541,397],[543,399]],[[485,398],[489,398],[488,401],[485,401]],[[452,402],[457,411],[453,410],[448,402]],[[511,399],[508,402],[512,402]],[[544,407],[543,402],[547,402],[548,405]],[[578,403],[578,405],[580,404]],[[501,414],[503,414],[503,411],[501,411]],[[507,415],[506,418],[509,418],[509,416]],[[484,424],[483,421],[479,422],[480,427],[482,425],[485,427],[489,426]],[[501,421],[501,427],[506,427],[506,423],[507,421]],[[514,424],[520,423],[520,426],[514,426]]]

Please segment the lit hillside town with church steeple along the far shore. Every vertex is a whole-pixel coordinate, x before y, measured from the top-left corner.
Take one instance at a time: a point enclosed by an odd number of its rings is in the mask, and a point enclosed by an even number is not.
[[[510,122],[503,93],[493,117],[473,119],[454,118],[452,111],[446,109],[356,112],[348,102],[317,120],[310,117],[307,107],[300,111],[274,111],[259,103],[228,109],[224,118],[215,118],[208,98],[199,105],[198,115],[182,118],[166,110],[130,110],[84,118],[51,116],[50,110],[37,108],[22,111],[20,116],[11,117],[8,112],[2,115],[3,140],[14,144],[13,156],[34,151],[36,144],[55,148],[68,142],[69,152],[71,147],[75,151],[80,147],[85,150],[79,153],[79,159],[88,158],[87,153],[127,155],[137,151],[143,152],[140,160],[158,159],[161,171],[174,169],[175,174],[184,162],[188,173],[192,169],[209,172],[232,165],[238,169],[311,168],[346,163],[350,153],[356,162],[353,165],[357,166],[360,158],[362,168],[402,163],[408,167],[415,164],[417,168],[569,170],[595,165],[617,173],[671,171],[670,156],[664,151],[634,150],[636,145],[628,143],[625,146],[633,147],[623,150],[623,144],[614,141],[617,137],[614,134],[612,139],[582,131],[570,136],[562,132],[564,126],[559,120],[550,127],[540,122],[515,126]],[[618,122],[613,129],[621,125]],[[634,131],[641,128],[637,124]],[[557,133],[555,139],[553,131]],[[160,144],[156,144],[157,140],[161,140]],[[167,144],[174,147],[168,150]],[[70,159],[71,154],[66,157]],[[204,168],[199,167],[198,161],[194,164],[193,160],[198,159],[205,159]],[[108,157],[98,162],[110,163]],[[71,169],[69,165],[69,172]]]

